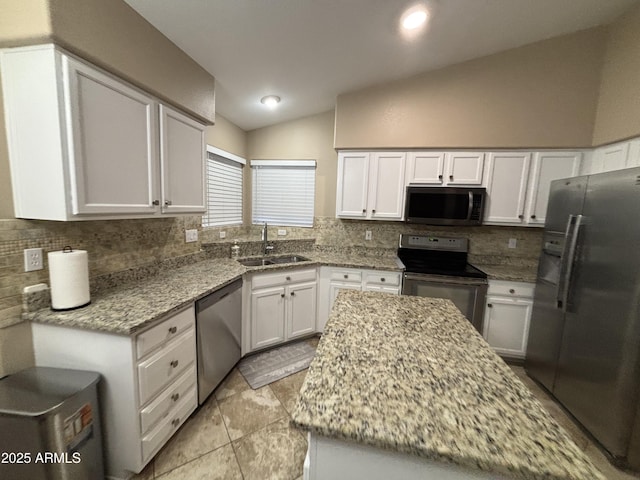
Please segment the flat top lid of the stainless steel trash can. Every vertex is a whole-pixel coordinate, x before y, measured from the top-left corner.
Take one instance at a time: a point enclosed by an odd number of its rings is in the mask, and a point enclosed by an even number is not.
[[[99,373],[84,370],[51,367],[22,370],[0,380],[0,415],[44,415],[99,380]]]

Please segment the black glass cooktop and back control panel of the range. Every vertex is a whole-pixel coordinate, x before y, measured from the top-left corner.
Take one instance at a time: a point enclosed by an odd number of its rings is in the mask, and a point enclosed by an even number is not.
[[[400,235],[398,258],[409,273],[487,278],[486,273],[467,263],[468,245],[466,238]]]

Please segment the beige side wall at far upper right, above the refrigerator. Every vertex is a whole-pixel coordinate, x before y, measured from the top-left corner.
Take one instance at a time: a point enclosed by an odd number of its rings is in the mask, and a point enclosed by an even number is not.
[[[593,144],[640,135],[640,6],[609,28]]]

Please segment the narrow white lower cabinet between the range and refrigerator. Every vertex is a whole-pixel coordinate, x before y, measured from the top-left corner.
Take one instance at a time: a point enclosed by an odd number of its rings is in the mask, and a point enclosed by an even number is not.
[[[524,358],[534,287],[532,283],[489,280],[483,337],[499,355]]]

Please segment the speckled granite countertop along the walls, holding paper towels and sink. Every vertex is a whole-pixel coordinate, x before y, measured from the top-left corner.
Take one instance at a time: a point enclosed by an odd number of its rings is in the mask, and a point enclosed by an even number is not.
[[[366,255],[343,256],[332,253],[302,252],[309,261],[245,267],[230,258],[204,260],[165,271],[144,280],[126,282],[98,294],[91,304],[66,312],[43,308],[23,313],[25,320],[122,335],[135,334],[165,315],[231,283],[247,272],[334,265],[356,268],[401,270],[396,257]],[[274,255],[277,256],[277,255]]]

